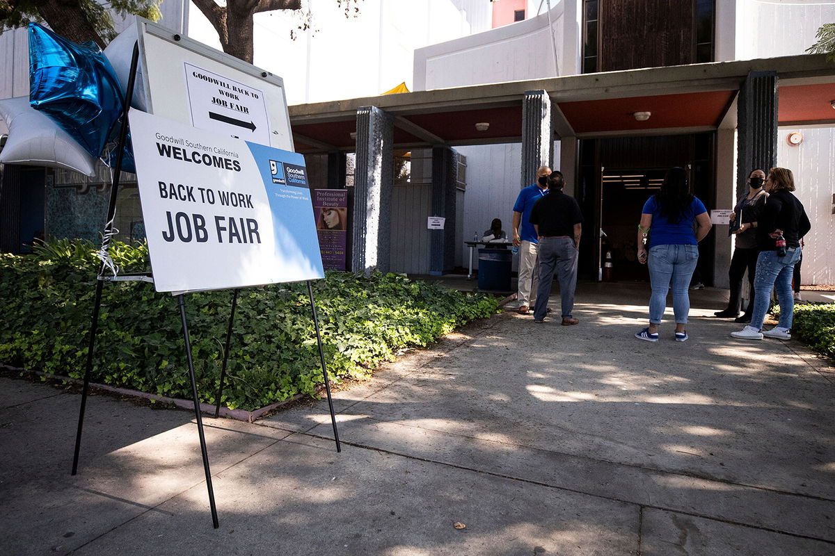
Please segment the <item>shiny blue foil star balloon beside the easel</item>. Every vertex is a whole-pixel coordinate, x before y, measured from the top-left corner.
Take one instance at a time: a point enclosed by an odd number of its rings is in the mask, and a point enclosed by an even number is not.
[[[76,44],[29,24],[29,103],[53,118],[91,156],[99,158],[119,135],[122,94],[108,59],[93,42]],[[135,172],[126,149],[123,168]]]

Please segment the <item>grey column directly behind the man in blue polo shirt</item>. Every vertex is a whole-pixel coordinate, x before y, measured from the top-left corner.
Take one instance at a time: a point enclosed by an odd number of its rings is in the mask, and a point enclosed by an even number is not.
[[[522,175],[520,187],[536,180],[540,166],[554,163],[554,123],[551,98],[545,91],[528,91],[522,101]],[[552,167],[553,168],[553,167]]]

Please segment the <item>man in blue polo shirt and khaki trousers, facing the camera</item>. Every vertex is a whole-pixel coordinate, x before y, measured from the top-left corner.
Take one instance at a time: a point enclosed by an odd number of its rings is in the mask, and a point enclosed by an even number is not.
[[[539,286],[538,245],[534,224],[529,223],[528,219],[534,203],[548,193],[550,173],[551,168],[540,166],[536,171],[537,183],[522,188],[514,204],[514,246],[519,247],[519,288],[516,293],[519,314],[530,313],[530,308],[536,303],[536,288]]]

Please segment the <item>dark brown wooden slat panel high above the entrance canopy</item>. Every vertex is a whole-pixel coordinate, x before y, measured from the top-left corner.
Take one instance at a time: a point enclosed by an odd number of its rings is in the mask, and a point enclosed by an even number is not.
[[[693,63],[693,0],[600,0],[600,71]]]

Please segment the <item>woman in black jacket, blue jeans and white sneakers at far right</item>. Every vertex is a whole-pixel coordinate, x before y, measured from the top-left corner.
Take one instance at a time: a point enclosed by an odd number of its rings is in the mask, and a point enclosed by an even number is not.
[[[772,168],[768,172],[768,199],[757,225],[757,248],[760,254],[757,256],[757,275],[754,277],[754,312],[751,314],[750,325],[731,333],[734,338],[792,338],[792,274],[794,264],[800,260],[802,253],[800,240],[812,229],[802,203],[791,193],[794,190],[791,170]],[[763,332],[762,322],[766,318],[772,288],[777,288],[780,323]]]

